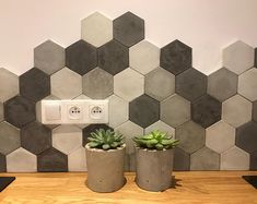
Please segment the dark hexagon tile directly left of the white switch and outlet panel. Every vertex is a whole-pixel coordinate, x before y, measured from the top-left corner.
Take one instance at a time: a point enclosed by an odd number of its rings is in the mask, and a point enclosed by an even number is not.
[[[35,104],[22,96],[4,103],[4,118],[11,124],[22,128],[36,120]]]

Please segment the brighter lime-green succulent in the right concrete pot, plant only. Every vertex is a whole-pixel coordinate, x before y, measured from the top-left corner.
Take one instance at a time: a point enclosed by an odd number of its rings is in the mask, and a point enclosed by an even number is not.
[[[138,147],[157,151],[173,148],[179,143],[178,140],[160,130],[154,130],[145,135],[135,136],[133,142]]]

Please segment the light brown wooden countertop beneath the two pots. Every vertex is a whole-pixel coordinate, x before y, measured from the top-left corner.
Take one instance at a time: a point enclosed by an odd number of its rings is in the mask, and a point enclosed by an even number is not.
[[[148,192],[133,182],[135,173],[126,173],[127,184],[114,193],[95,193],[85,187],[86,173],[0,173],[16,180],[0,193],[1,204],[257,204],[257,190],[241,176],[257,171],[186,171],[174,172],[175,188],[165,192]]]

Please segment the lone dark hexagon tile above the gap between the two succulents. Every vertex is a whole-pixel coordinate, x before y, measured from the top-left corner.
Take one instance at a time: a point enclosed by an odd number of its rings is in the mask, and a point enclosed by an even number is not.
[[[157,100],[141,95],[129,103],[129,120],[136,124],[147,128],[160,118],[160,104]]]

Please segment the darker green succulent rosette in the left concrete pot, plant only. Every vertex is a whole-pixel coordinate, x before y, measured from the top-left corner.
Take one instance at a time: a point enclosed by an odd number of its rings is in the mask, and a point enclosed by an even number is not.
[[[91,148],[102,148],[104,151],[118,148],[124,144],[122,134],[110,129],[95,130],[87,140],[90,141],[87,145]]]

